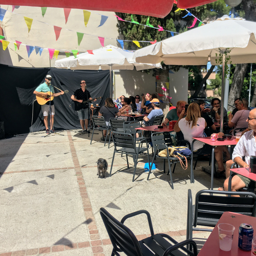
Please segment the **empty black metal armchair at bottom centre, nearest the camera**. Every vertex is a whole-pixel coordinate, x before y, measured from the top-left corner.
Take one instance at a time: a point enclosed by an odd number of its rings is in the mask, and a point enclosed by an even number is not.
[[[109,238],[113,245],[111,256],[120,256],[119,252],[124,252],[128,256],[182,256],[182,255],[197,255],[197,245],[192,240],[177,242],[172,237],[166,234],[154,234],[151,217],[146,210],[125,215],[121,222],[115,219],[107,210],[100,208],[99,210],[104,225],[107,229]],[[124,225],[124,221],[130,217],[139,214],[146,214],[150,230],[150,237],[138,241],[134,233]],[[168,241],[167,241],[168,240]],[[184,246],[193,246],[193,252],[187,250]]]

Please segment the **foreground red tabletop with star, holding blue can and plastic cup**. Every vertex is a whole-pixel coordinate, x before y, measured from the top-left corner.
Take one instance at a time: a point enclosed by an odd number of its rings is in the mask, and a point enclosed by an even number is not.
[[[235,227],[232,247],[229,252],[220,250],[219,230],[218,230],[218,224],[220,223],[229,223]],[[244,251],[238,247],[238,230],[242,223],[250,224],[252,225],[253,229],[256,230],[255,217],[237,214],[234,212],[224,212],[198,255],[199,256],[227,256],[227,255],[250,256],[251,251]]]

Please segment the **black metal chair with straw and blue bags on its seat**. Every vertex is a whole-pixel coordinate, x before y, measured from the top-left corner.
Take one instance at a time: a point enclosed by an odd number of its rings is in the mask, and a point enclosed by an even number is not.
[[[160,156],[157,155],[158,150],[166,149],[167,152],[169,152],[168,147],[172,145],[171,135],[169,134],[169,132],[155,132],[155,133],[152,133],[151,134],[151,142],[152,142],[152,147],[154,148],[154,155],[153,155],[152,163],[151,163],[150,168],[149,168],[149,174],[148,174],[147,180],[149,179],[149,175],[151,173],[151,169],[152,169],[152,165],[154,163],[154,159],[157,157],[157,158],[162,158],[164,160],[164,172],[165,172],[165,160],[167,159],[168,166],[169,166],[169,174],[170,174],[170,179],[171,179],[171,187],[173,189],[171,166],[172,166],[172,164],[179,163],[179,159],[177,157],[170,157],[169,154],[167,154],[167,157],[160,157]],[[189,162],[190,156],[180,157],[180,159],[182,161],[184,161],[185,158],[187,158],[187,162]],[[174,165],[174,168],[173,168],[173,172],[174,172],[174,169],[175,169],[175,165]],[[193,177],[194,177],[194,174],[193,174],[193,170],[192,170],[192,173],[190,175],[190,183],[193,182]]]

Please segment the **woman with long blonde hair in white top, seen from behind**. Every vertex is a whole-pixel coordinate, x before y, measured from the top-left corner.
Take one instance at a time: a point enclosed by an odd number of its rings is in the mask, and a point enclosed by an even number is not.
[[[185,109],[182,110],[177,123],[174,126],[174,132],[182,131],[184,139],[189,141],[190,145],[192,144],[192,137],[205,137],[204,129],[207,126],[205,119],[201,117],[200,107],[197,103],[193,102],[189,104],[187,109],[187,115],[185,118]],[[222,137],[224,134],[219,133],[219,137]],[[205,144],[200,141],[194,142],[193,152],[196,154],[202,154],[204,152],[211,152],[212,146]],[[222,156],[222,146],[217,146],[215,148],[215,159],[218,163],[219,172],[225,171],[223,165],[223,156]]]

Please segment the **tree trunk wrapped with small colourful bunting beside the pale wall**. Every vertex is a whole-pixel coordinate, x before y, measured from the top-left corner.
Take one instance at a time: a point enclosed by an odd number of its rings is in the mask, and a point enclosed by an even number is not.
[[[163,110],[164,117],[167,115],[170,108],[170,95],[169,91],[169,69],[163,67],[162,70],[155,70],[156,75],[156,94],[158,99],[161,99],[164,103],[160,104],[160,109]],[[168,83],[168,84],[167,84]],[[162,89],[164,87],[165,89]],[[160,96],[160,95],[164,96]],[[168,96],[168,97],[167,97]]]

